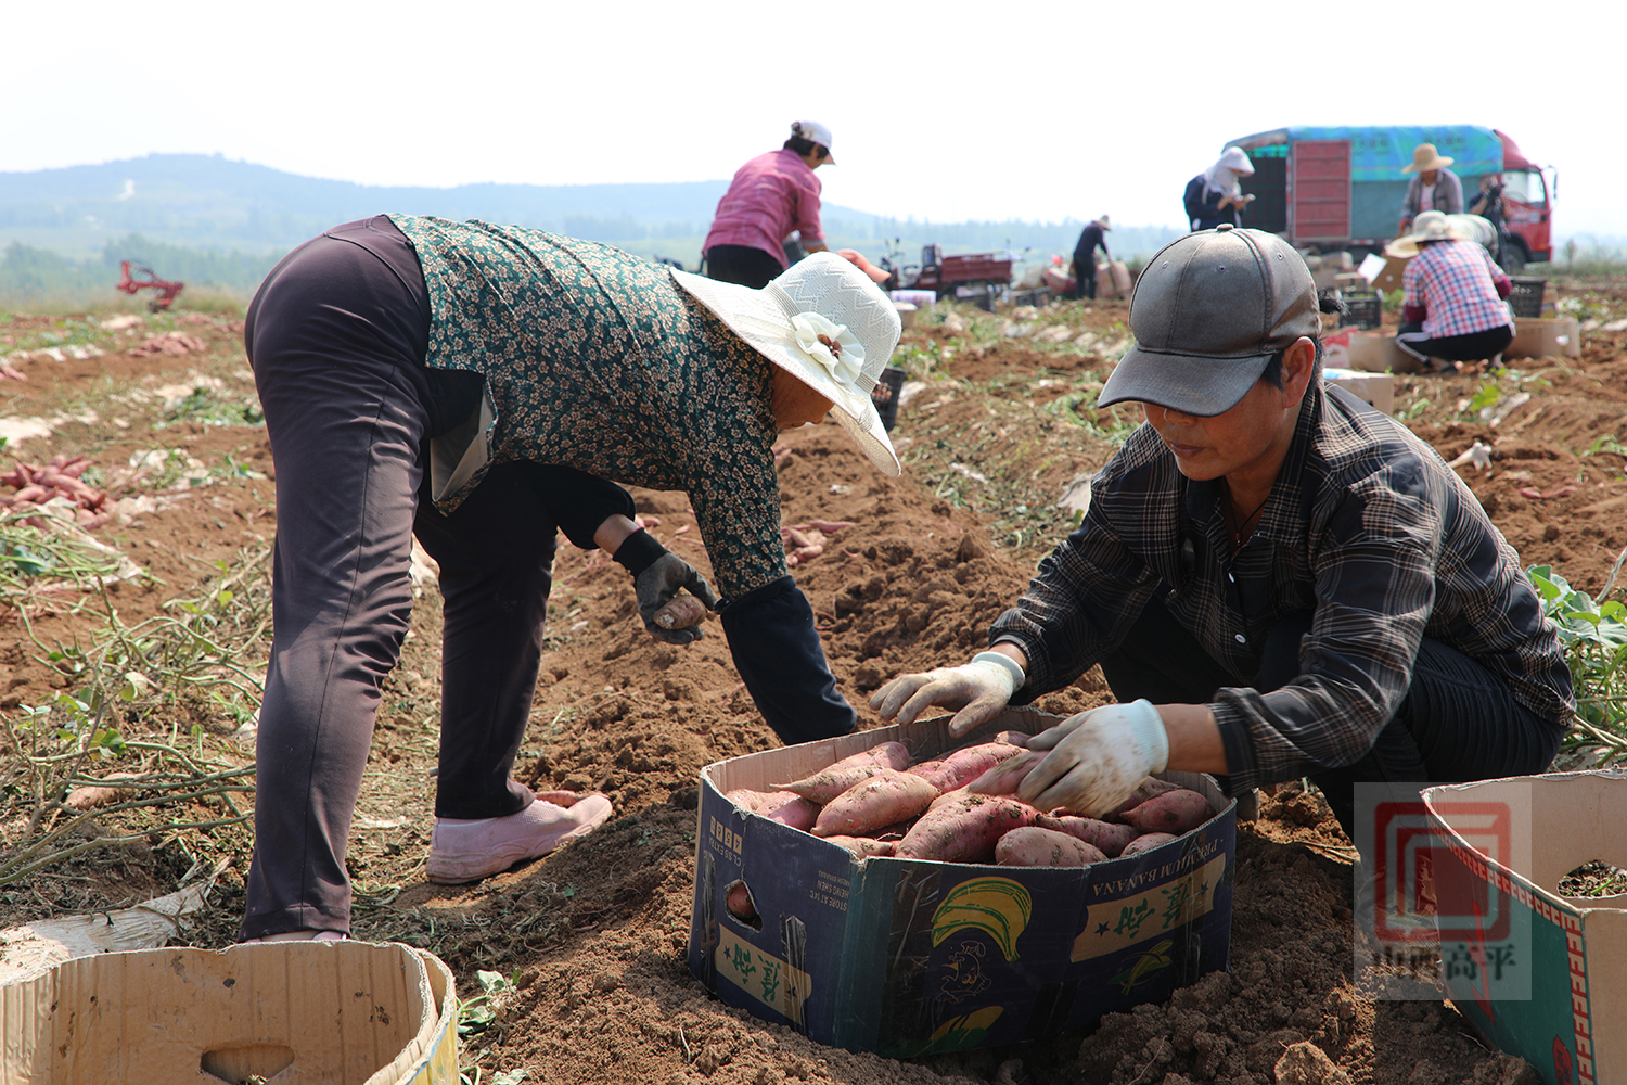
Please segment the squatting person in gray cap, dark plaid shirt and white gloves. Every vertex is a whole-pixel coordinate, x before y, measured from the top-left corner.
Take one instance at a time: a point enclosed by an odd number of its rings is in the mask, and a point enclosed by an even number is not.
[[[1150,773],[1232,794],[1311,778],[1347,833],[1359,782],[1542,771],[1573,714],[1518,555],[1401,423],[1321,381],[1318,296],[1272,234],[1222,226],[1152,259],[1100,405],[1147,423],[1080,527],[962,667],[870,704],[965,734],[1101,664],[1118,703],[1043,732],[1020,795],[1100,815]]]

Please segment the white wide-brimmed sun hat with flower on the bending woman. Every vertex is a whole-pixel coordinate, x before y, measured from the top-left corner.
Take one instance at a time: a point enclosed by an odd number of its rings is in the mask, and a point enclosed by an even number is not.
[[[678,270],[672,278],[774,368],[828,399],[882,473],[901,473],[870,392],[903,324],[869,275],[835,252],[814,252],[761,290]]]

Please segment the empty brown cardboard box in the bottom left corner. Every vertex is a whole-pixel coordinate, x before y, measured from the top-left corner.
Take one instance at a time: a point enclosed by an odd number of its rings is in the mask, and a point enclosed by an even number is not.
[[[268,942],[76,956],[0,987],[0,1085],[457,1085],[433,955]]]

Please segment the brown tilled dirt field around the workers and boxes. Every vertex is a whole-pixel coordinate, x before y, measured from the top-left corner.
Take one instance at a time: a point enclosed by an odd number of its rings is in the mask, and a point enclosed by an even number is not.
[[[1594,327],[1627,316],[1627,286],[1572,286],[1562,296]],[[957,309],[949,320],[934,316],[906,332],[900,358],[919,387],[911,387],[893,431],[906,462],[900,480],[869,468],[835,425],[784,439],[784,524],[853,524],[794,573],[861,726],[880,722],[864,699],[892,675],[963,662],[979,647],[989,621],[1067,530],[1072,514],[1056,508],[1066,485],[1111,452],[1105,434],[1136,421],[1129,410],[1098,416],[1090,408],[1105,358],[1124,345],[1126,316],[1123,303],[1058,304],[1036,319]],[[198,346],[130,353],[171,330]],[[242,633],[242,647],[226,662],[251,677],[264,669],[264,621],[254,615],[264,612],[273,483],[265,431],[252,425],[239,333],[229,314],[148,317],[117,332],[85,317],[0,317],[0,358],[10,355],[28,377],[0,381],[0,418],[52,426],[49,436],[13,439],[0,464],[88,455],[96,468],[86,480],[107,495],[107,506],[127,498],[117,506],[122,514],[91,534],[145,571],[106,594],[46,594],[37,584],[16,587],[16,577],[0,581],[0,927],[125,906],[225,862],[210,906],[181,942],[225,947],[234,937],[246,828],[176,828],[229,821],[233,810],[220,797],[96,818],[55,846],[98,834],[133,839],[26,877],[8,878],[8,870],[65,817],[36,815],[44,799],[62,794],[67,768],[52,755],[72,748],[72,735],[54,735],[29,709],[85,693],[86,667],[112,657],[96,647],[117,639],[111,630],[166,615],[215,621],[216,610],[234,607],[238,617],[218,620],[223,639],[228,626]],[[75,345],[103,353],[73,358]],[[52,346],[60,359],[42,353]],[[1474,441],[1490,446],[1490,465],[1466,464],[1463,478],[1524,564],[1552,564],[1596,594],[1627,545],[1627,459],[1619,442],[1627,441],[1627,332],[1591,332],[1580,359],[1513,364],[1518,371],[1502,379],[1401,377],[1396,410],[1448,460]],[[155,449],[181,455],[159,457],[161,467],[148,457],[148,472],[129,478],[132,460]],[[709,571],[685,496],[636,496],[651,530]],[[1360,997],[1352,986],[1352,849],[1315,792],[1298,787],[1264,797],[1261,818],[1238,828],[1232,971],[1168,1005],[1049,1041],[909,1062],[812,1044],[722,1007],[685,963],[696,774],[776,740],[758,722],[716,623],[713,636],[685,649],[651,641],[622,568],[561,545],[548,652],[517,773],[535,787],[604,791],[615,800],[615,820],[477,887],[423,880],[439,690],[431,584],[403,660],[386,683],[353,833],[356,937],[431,948],[465,997],[480,994],[480,970],[513,979],[511,991],[495,996],[495,1022],[464,1039],[467,1080],[477,1080],[477,1069],[486,1085],[1536,1080],[1529,1067],[1477,1041],[1450,1004]],[[15,558],[0,555],[13,566]],[[223,602],[225,587],[233,595]],[[192,610],[166,608],[177,599]],[[251,604],[260,610],[238,613]],[[130,708],[96,716],[148,747],[132,745],[80,771],[148,771],[176,752],[198,765],[249,765],[252,745],[242,743],[239,727],[252,704],[229,688],[177,690],[145,699],[137,690]],[[1041,708],[1072,712],[1105,699],[1100,673],[1090,672],[1043,698]],[[55,726],[67,719],[63,711],[52,716]],[[238,810],[252,802],[242,794],[228,799]]]

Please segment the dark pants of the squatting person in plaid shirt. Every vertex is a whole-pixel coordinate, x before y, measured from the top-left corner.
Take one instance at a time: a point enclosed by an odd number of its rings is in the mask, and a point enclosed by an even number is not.
[[[1222,686],[1271,693],[1300,673],[1300,639],[1310,628],[1308,612],[1284,618],[1266,636],[1259,672],[1233,675],[1154,597],[1119,651],[1101,660],[1101,672],[1118,701],[1207,704]],[[1393,784],[1398,797],[1415,799],[1417,784],[1541,773],[1562,734],[1515,701],[1490,670],[1424,638],[1412,686],[1373,748],[1354,765],[1306,774],[1355,839],[1355,784]]]

